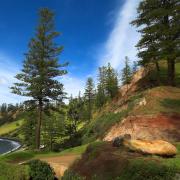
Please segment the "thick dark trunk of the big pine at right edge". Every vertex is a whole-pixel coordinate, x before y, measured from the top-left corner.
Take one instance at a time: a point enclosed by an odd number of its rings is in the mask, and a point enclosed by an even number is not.
[[[168,84],[170,86],[175,85],[175,60],[174,59],[168,59]]]

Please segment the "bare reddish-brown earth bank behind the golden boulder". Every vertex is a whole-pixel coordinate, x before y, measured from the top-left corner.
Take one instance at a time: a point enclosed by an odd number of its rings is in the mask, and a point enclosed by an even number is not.
[[[112,141],[124,134],[130,134],[134,139],[180,141],[180,116],[129,116],[114,125],[104,140]]]

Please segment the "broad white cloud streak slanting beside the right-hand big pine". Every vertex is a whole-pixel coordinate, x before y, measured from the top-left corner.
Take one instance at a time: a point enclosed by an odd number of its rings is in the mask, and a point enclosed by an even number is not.
[[[126,0],[124,6],[117,12],[114,27],[100,50],[99,65],[108,62],[116,68],[122,68],[124,57],[128,56],[131,60],[136,59],[136,43],[140,35],[136,28],[129,23],[136,17],[136,8],[140,0]]]

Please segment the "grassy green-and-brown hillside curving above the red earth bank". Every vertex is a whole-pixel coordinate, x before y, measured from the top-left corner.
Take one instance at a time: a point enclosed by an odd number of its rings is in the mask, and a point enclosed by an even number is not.
[[[102,139],[107,131],[127,116],[179,114],[180,88],[160,86],[135,92],[122,103],[121,98],[106,104],[105,108],[84,130],[83,143]],[[145,105],[140,105],[145,101]]]

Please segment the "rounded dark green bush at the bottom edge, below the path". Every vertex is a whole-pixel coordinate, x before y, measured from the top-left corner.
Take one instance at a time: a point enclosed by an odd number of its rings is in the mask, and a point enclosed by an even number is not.
[[[40,160],[28,162],[29,175],[33,180],[54,180],[55,173],[50,165]]]

